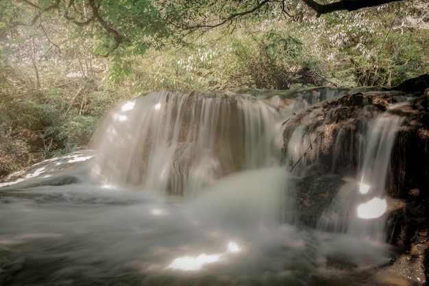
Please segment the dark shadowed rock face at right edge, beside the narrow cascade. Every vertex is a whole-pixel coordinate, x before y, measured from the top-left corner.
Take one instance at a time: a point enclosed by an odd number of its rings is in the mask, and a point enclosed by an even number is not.
[[[429,229],[429,116],[415,104],[421,97],[402,110],[406,118],[393,145],[387,176],[387,194],[406,202],[391,214],[391,242],[406,248],[427,248],[416,237]]]

